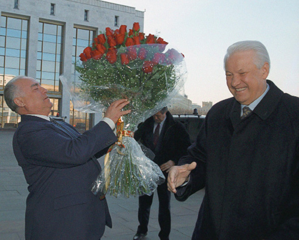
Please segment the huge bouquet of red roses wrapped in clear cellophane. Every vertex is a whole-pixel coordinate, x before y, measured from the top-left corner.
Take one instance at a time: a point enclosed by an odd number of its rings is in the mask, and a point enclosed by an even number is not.
[[[140,32],[139,23],[127,32],[122,25],[98,35],[80,54],[78,78],[67,81],[74,107],[85,112],[105,111],[113,101],[126,98],[131,113],[118,124],[119,141],[106,155],[105,171],[93,192],[114,196],[150,195],[164,181],[159,167],[134,140],[140,122],[158,112],[178,93],[186,79],[184,56],[162,38]]]

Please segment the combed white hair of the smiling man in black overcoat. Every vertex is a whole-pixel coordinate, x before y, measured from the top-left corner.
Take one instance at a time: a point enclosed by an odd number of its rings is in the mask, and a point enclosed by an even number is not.
[[[258,69],[261,69],[264,66],[265,62],[269,63],[270,69],[270,57],[264,44],[259,41],[248,40],[236,42],[227,48],[227,52],[224,56],[224,70],[226,61],[229,58],[229,56],[231,56],[235,52],[244,52],[248,50],[253,50],[256,53],[254,64],[257,66]]]

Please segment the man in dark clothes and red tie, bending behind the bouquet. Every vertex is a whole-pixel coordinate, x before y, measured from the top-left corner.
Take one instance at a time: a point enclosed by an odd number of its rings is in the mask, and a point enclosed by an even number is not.
[[[167,178],[170,167],[174,166],[178,159],[187,153],[187,147],[191,144],[189,134],[184,125],[173,119],[164,107],[158,113],[147,119],[134,133],[134,138],[148,147],[155,157],[153,161],[160,167]],[[167,184],[157,187],[159,199],[158,221],[160,225],[159,238],[168,240],[170,234],[170,192]],[[139,227],[134,240],[141,240],[147,235],[149,224],[149,211],[153,194],[139,197],[138,220]]]

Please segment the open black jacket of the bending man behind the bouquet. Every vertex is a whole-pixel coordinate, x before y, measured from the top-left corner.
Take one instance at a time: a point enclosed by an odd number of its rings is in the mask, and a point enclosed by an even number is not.
[[[177,164],[178,159],[187,154],[187,148],[191,144],[184,125],[174,120],[171,114],[167,112],[156,147],[153,145],[153,125],[154,120],[150,117],[139,126],[134,133],[134,138],[154,152],[153,161],[158,166],[168,160]]]

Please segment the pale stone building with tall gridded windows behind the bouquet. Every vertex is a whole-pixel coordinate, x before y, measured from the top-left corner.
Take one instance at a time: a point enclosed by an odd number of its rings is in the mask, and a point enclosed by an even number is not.
[[[99,114],[74,111],[60,75],[75,72],[79,54],[106,27],[134,22],[144,28],[144,12],[100,0],[0,0],[0,128],[16,127],[20,117],[4,102],[3,89],[18,75],[40,82],[53,103],[51,115],[89,129]]]

